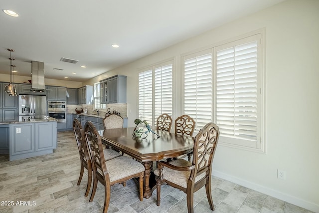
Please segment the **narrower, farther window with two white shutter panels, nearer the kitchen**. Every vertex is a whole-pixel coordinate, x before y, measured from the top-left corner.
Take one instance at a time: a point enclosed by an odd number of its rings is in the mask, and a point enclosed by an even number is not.
[[[172,115],[172,62],[139,71],[139,119],[152,127],[162,113]]]

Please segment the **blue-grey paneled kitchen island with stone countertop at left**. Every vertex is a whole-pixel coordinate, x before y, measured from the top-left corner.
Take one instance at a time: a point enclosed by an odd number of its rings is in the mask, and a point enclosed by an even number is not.
[[[57,148],[57,120],[51,117],[0,123],[2,154],[8,147],[9,160],[53,153]]]

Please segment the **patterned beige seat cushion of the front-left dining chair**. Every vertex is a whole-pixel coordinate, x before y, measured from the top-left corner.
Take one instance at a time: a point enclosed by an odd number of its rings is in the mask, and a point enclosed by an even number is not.
[[[105,164],[111,182],[145,171],[143,164],[127,156],[114,158]]]

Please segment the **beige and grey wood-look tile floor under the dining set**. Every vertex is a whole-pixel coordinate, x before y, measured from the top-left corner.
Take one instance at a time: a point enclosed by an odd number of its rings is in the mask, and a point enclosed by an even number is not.
[[[101,184],[93,202],[84,197],[86,174],[77,186],[79,154],[72,131],[58,133],[53,154],[8,161],[0,155],[0,213],[101,213],[104,188]],[[265,194],[216,177],[212,178],[214,213],[310,213]],[[21,203],[22,202],[22,203]],[[9,206],[11,205],[11,206]],[[187,213],[186,195],[169,186],[141,202],[131,180],[126,187],[112,187],[108,213]],[[204,188],[194,195],[194,212],[211,213]]]

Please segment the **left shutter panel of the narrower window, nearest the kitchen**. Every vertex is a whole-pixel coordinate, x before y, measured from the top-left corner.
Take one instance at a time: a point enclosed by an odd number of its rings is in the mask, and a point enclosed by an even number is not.
[[[139,73],[139,119],[149,124],[153,122],[152,78],[152,69]]]

